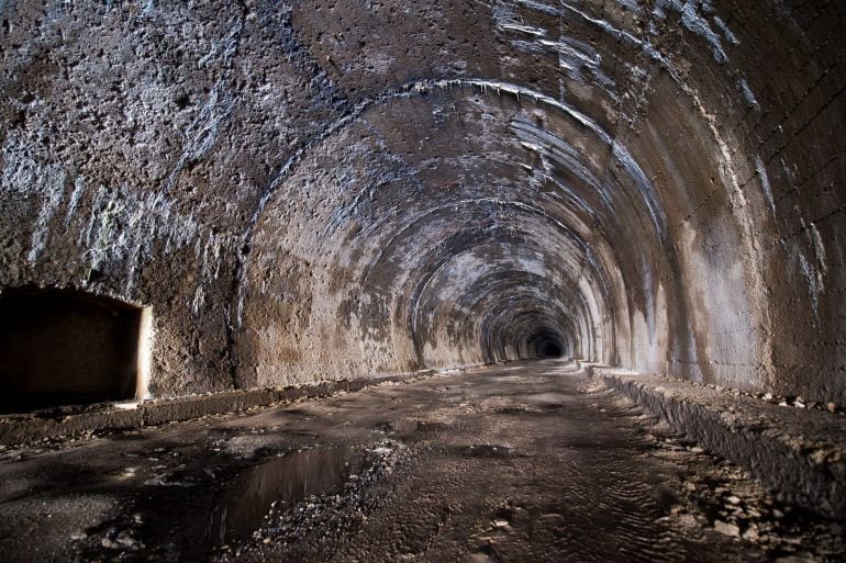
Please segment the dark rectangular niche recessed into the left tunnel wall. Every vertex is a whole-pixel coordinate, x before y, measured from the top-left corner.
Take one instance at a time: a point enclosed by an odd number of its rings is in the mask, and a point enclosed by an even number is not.
[[[146,394],[149,309],[70,290],[0,293],[0,413]]]

